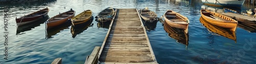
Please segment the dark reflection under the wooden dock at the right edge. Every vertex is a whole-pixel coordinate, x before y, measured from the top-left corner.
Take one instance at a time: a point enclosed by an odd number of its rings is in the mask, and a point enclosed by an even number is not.
[[[250,25],[250,24],[247,24],[247,23],[239,22],[238,27],[242,28],[244,30],[247,30],[248,32],[256,33],[256,26],[255,25]]]

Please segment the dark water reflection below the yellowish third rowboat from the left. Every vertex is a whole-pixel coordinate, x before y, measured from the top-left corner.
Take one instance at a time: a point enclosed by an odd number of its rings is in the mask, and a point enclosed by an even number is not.
[[[72,37],[75,38],[77,34],[80,34],[84,30],[87,30],[88,27],[92,27],[93,26],[92,22],[93,22],[93,17],[90,20],[88,20],[86,23],[77,24],[75,26],[72,26],[71,29],[70,29]]]

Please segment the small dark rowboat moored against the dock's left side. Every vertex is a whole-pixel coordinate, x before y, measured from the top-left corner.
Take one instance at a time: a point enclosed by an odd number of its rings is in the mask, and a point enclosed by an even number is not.
[[[110,21],[113,16],[115,14],[115,10],[112,7],[108,7],[104,10],[102,10],[101,12],[99,12],[99,14],[97,15],[98,21],[101,23],[105,23]]]

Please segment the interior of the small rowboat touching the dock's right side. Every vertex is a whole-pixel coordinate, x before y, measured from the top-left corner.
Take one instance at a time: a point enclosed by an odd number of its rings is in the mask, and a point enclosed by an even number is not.
[[[156,18],[157,14],[153,11],[142,9],[141,15],[148,18]]]

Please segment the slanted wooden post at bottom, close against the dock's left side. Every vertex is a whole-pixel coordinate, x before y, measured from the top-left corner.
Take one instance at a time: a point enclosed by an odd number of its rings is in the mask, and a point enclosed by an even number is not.
[[[96,46],[84,64],[97,64],[100,47]]]

